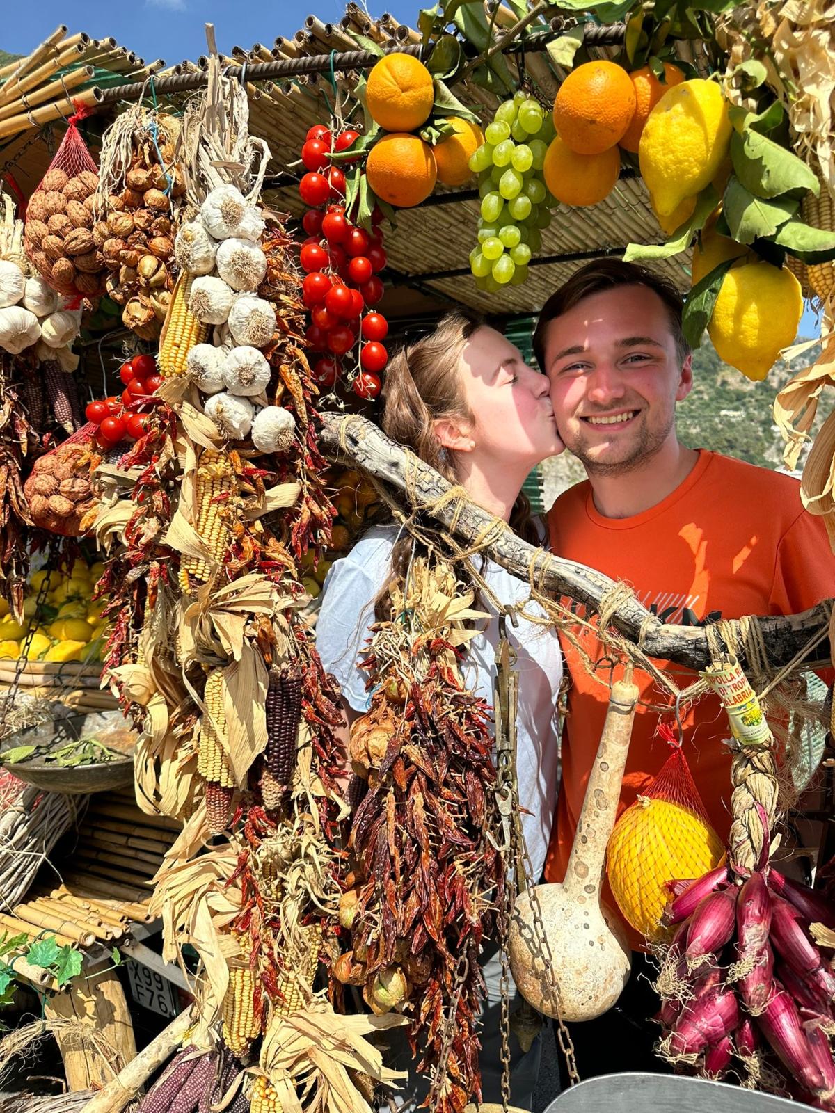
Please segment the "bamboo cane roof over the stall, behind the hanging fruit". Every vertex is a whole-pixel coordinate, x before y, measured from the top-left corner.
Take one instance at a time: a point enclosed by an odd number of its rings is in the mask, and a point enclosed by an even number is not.
[[[507,26],[513,19],[508,9],[499,9],[500,26]],[[548,26],[542,22],[542,30],[547,31]],[[26,58],[0,68],[0,145],[6,145],[0,147],[0,174],[12,168],[24,194],[30,194],[36,187],[50,158],[47,145],[37,141],[41,138],[40,129],[48,129],[53,149],[62,130],[62,120],[72,110],[72,99],[80,99],[90,106],[99,105],[99,111],[109,119],[118,111],[118,102],[108,101],[108,85],[121,87],[135,82],[138,98],[144,87],[146,95],[150,91],[151,76],[158,82],[169,76],[199,73],[206,67],[206,58],[168,68],[164,67],[161,59],[146,65],[115,40],[101,42],[85,35],[68,37],[66,28],[61,35],[55,32],[50,38],[53,41],[47,40],[46,49],[42,43],[32,52],[38,62],[37,70],[41,73],[39,83],[32,86],[31,80],[27,80],[26,71],[17,72],[26,63]],[[304,27],[292,39],[279,37],[271,47],[262,43],[248,49],[234,47],[224,61],[239,67],[243,63],[253,66],[325,56],[332,51],[356,51],[366,47],[367,40],[384,50],[402,49],[420,43],[420,35],[413,28],[397,23],[391,16],[371,19],[355,3],[348,3],[345,17],[337,23],[323,23],[315,16],[308,16]],[[160,43],[160,47],[164,46]],[[590,48],[596,57],[611,57],[616,50],[617,46]],[[696,65],[700,60],[692,52],[686,59]],[[564,77],[543,51],[527,52],[523,61],[510,55],[507,61],[515,79],[520,77],[520,66],[524,67],[521,76],[532,83],[543,102],[553,98]],[[268,178],[265,200],[278,211],[299,217],[304,211],[296,188],[296,181],[304,173],[298,161],[299,149],[308,127],[330,118],[334,106],[330,76],[308,73],[272,80],[253,75],[249,80],[245,68],[239,73],[249,96],[250,131],[266,139],[272,150],[269,170],[273,177]],[[341,89],[350,90],[356,83],[358,71],[336,70],[335,77]],[[72,82],[77,83],[69,89],[68,100],[63,87]],[[28,91],[20,93],[21,86]],[[491,92],[470,78],[458,81],[453,91],[480,117],[482,124],[492,119],[499,101]],[[128,92],[132,95],[134,90]],[[125,96],[125,90],[120,88],[119,93]],[[176,109],[190,95],[163,95],[160,88],[159,100]],[[26,96],[30,106],[23,112],[18,110],[20,96]],[[31,107],[36,99],[38,106]],[[99,104],[101,100],[106,102]],[[94,135],[100,130],[96,117],[91,130]],[[469,275],[469,254],[475,244],[479,205],[473,193],[468,187],[443,193],[443,187],[440,187],[430,199],[431,204],[401,209],[396,228],[386,230],[389,268],[383,277],[390,292],[385,307],[389,308],[390,299],[394,301],[399,306],[395,315],[454,303],[488,313],[536,312],[548,295],[588,258],[596,255],[619,256],[628,243],[658,243],[662,239],[644,183],[639,177],[621,176],[601,204],[590,208],[560,206],[554,209],[551,226],[542,232],[542,248],[538,253],[539,258],[549,262],[532,264],[523,285],[505,286],[499,294],[491,295],[478,290]],[[689,288],[689,255],[664,260],[658,268],[680,288]]]

